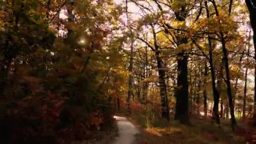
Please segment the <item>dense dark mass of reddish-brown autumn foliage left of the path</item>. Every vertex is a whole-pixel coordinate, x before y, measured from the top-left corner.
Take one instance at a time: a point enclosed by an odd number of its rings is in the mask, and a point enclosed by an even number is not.
[[[3,143],[70,144],[112,125],[109,89],[125,80],[119,10],[112,0],[0,3]]]

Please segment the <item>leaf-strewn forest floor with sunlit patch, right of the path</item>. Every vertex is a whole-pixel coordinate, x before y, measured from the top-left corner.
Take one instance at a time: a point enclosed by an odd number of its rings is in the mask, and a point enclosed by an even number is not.
[[[139,125],[141,131],[140,144],[245,144],[243,136],[234,133],[229,121],[222,120],[221,127],[205,117],[190,117],[191,125],[181,125],[170,120],[167,122],[155,116],[154,120],[145,123],[146,117],[141,113],[133,113],[128,117],[133,123]],[[238,124],[237,128],[244,127]],[[121,143],[123,144],[123,143]]]

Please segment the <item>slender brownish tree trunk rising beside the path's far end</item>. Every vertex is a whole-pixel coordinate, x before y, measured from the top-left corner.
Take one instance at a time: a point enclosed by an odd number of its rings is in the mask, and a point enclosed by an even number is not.
[[[130,107],[130,102],[131,102],[131,95],[132,95],[132,82],[133,82],[133,37],[131,37],[131,51],[130,51],[130,65],[129,65],[129,82],[128,82],[128,95],[126,99],[127,103],[127,110],[129,113],[131,113],[131,107]]]

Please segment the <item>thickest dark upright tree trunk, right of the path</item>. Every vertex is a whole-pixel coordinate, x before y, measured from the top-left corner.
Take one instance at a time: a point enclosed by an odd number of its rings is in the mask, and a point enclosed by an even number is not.
[[[178,79],[176,89],[176,111],[174,120],[180,120],[183,124],[189,123],[188,112],[188,80],[187,80],[187,59],[184,53],[178,54]]]

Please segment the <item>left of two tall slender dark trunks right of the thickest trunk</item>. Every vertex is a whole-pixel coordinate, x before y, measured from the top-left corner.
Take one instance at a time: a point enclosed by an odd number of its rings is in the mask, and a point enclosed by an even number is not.
[[[208,10],[207,2],[205,1],[205,8],[207,13],[207,18],[210,18],[210,13]],[[211,38],[208,35],[208,43],[209,43],[209,63],[210,63],[210,70],[211,70],[211,82],[212,82],[212,88],[213,88],[213,119],[216,119],[216,122],[218,125],[220,125],[219,120],[219,92],[216,89],[216,83],[215,83],[215,70],[213,66],[213,47],[211,43]]]

